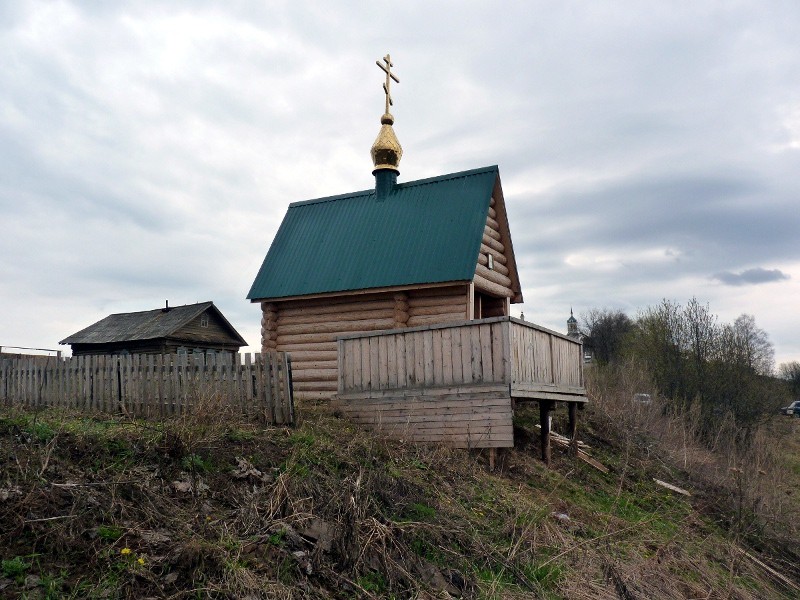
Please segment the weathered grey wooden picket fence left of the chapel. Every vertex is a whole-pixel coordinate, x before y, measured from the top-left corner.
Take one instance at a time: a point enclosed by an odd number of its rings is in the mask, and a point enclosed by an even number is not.
[[[285,352],[0,359],[0,400],[137,417],[185,414],[220,402],[289,425],[291,373]]]

